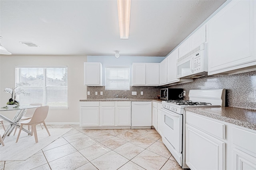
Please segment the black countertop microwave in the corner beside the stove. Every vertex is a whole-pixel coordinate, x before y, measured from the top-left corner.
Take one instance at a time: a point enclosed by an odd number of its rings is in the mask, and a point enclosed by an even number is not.
[[[183,100],[183,88],[162,88],[160,99],[162,100]]]

